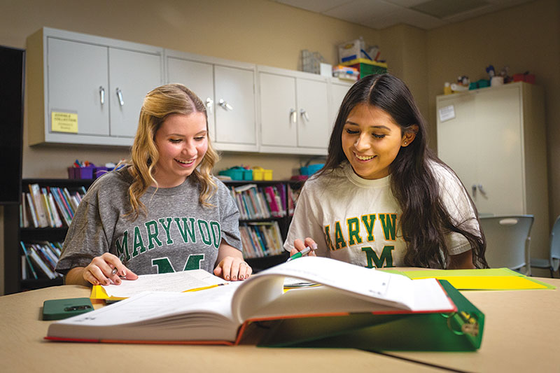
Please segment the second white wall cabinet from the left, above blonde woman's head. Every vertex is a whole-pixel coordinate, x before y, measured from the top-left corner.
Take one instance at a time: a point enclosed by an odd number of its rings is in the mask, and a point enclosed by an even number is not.
[[[181,83],[207,105],[218,150],[257,151],[255,65],[165,50],[167,83]]]

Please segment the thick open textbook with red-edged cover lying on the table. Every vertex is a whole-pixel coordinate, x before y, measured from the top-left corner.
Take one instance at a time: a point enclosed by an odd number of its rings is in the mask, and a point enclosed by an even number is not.
[[[286,277],[322,286],[285,291]],[[438,314],[441,318],[440,314],[455,311],[456,304],[436,279],[412,280],[328,258],[304,257],[226,286],[189,293],[134,295],[52,323],[46,339],[235,344],[255,321],[343,316],[342,323],[332,323],[325,329],[332,335],[342,329],[362,328],[364,322],[370,326],[367,316],[372,315]],[[355,314],[366,319],[347,318]],[[315,330],[313,335],[321,333]],[[286,344],[283,341],[281,344]]]

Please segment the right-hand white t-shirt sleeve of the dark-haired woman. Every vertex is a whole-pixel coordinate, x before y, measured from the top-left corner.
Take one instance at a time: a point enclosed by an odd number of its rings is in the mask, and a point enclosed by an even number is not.
[[[467,195],[461,181],[451,171],[445,169],[440,172],[440,193],[442,202],[458,226],[480,235],[480,227],[477,222],[475,210],[472,208],[470,198]],[[470,250],[470,244],[463,234],[451,232],[446,237],[449,255],[457,255]]]

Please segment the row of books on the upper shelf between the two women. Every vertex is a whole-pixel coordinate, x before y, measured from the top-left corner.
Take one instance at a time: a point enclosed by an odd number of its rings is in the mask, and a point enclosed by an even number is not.
[[[286,213],[293,213],[295,199],[290,185],[245,184],[228,185],[228,188],[235,199],[241,220],[282,218]],[[288,210],[286,210],[287,203]]]

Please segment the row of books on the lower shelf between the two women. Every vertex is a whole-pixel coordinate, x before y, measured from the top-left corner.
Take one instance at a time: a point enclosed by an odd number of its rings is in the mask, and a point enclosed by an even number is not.
[[[283,253],[283,239],[277,221],[239,225],[243,256],[262,258]]]

